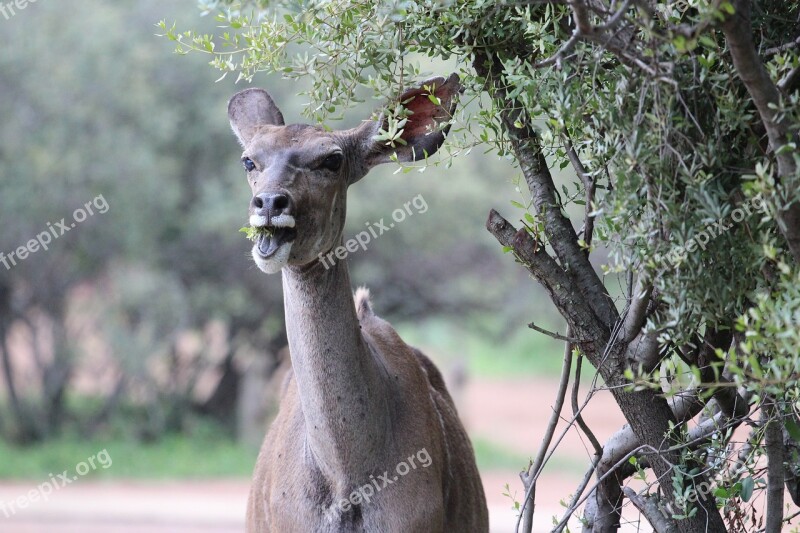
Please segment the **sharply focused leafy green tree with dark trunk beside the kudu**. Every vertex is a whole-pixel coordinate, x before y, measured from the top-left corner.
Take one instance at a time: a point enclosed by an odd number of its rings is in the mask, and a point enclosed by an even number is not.
[[[595,447],[596,481],[554,531],[584,501],[585,531],[616,530],[626,497],[657,531],[780,531],[784,482],[798,503],[800,437],[796,1],[202,4],[224,33],[162,24],[179,50],[247,79],[310,79],[315,121],[397,93],[425,58],[455,63],[471,105],[451,155],[485,144],[518,165],[520,227],[492,211],[487,228],[567,323],[556,405],[576,360],[572,421]],[[575,179],[558,188],[551,169],[568,166]],[[617,278],[614,297],[604,279]],[[580,417],[584,358],[629,422],[602,446]],[[523,531],[543,444],[522,475]],[[635,473],[647,491],[625,486]],[[753,490],[767,493],[764,516]]]

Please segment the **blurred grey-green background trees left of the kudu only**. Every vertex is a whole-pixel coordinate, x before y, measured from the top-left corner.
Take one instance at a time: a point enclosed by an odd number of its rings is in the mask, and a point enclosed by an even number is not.
[[[206,110],[224,110],[228,90],[202,62],[164,60],[169,47],[153,36],[158,14],[179,5],[90,2],[65,25],[71,7],[42,3],[3,30],[0,374],[11,415],[2,434],[14,442],[99,431],[131,404],[145,413],[124,420],[132,435],[181,429],[197,374],[282,336],[282,324],[260,319],[280,293],[252,272],[237,233],[248,198],[218,201],[237,195],[226,171],[236,143]],[[94,215],[58,230],[93,199]],[[10,261],[49,227],[59,233],[49,248]],[[215,321],[228,335],[222,362],[202,350],[188,369],[162,364],[176,359],[181,334]],[[153,366],[175,379],[157,379]],[[96,389],[76,390],[87,373]],[[70,395],[92,409],[71,410]]]

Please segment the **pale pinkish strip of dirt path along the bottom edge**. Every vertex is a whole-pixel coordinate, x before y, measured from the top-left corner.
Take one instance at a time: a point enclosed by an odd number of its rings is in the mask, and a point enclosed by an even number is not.
[[[510,472],[489,472],[484,485],[491,494]],[[565,486],[558,476],[542,479],[542,493]],[[5,483],[0,501],[27,494],[31,484]],[[558,488],[556,488],[558,487]],[[86,482],[54,493],[48,502],[31,503],[6,516],[3,533],[241,533],[244,531],[247,481]],[[511,533],[516,515],[509,500],[490,497],[492,533]],[[550,530],[552,516],[563,509],[537,505],[536,532]],[[574,522],[577,526],[577,521]],[[550,527],[548,527],[550,526]],[[573,531],[576,529],[573,528]],[[579,530],[579,528],[578,528]],[[628,529],[634,531],[634,529]],[[647,531],[647,530],[641,530]],[[455,532],[454,532],[455,533]]]

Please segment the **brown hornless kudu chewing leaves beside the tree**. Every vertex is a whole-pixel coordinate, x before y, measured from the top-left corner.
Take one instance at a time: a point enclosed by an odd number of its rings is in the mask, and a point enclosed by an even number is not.
[[[323,267],[342,243],[347,190],[375,165],[436,152],[455,110],[456,75],[400,95],[411,114],[394,146],[384,115],[345,131],[285,125],[269,94],[228,106],[253,198],[268,230],[252,256],[282,271],[292,371],[259,454],[250,533],[481,533],[488,513],[472,446],[441,374],[355,301],[347,263]]]

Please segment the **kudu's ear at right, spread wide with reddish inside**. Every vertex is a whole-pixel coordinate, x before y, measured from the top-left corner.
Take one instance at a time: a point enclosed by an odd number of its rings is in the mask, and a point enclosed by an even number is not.
[[[390,146],[374,138],[380,130],[386,131],[388,118],[382,115],[371,128],[373,138],[368,141],[365,157],[368,167],[388,163],[395,153],[401,163],[419,161],[436,153],[450,130],[449,121],[456,111],[456,95],[460,91],[458,75],[450,74],[446,80],[433,78],[401,94],[397,100],[410,111],[400,136],[405,144],[396,142]]]

